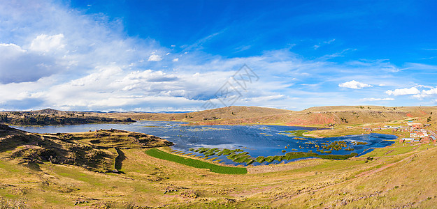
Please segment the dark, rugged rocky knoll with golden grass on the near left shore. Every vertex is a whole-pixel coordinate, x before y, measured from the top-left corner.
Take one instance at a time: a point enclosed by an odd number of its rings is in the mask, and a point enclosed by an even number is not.
[[[91,171],[113,171],[120,148],[169,146],[165,139],[123,130],[34,134],[0,125],[0,153],[20,164],[71,164]]]

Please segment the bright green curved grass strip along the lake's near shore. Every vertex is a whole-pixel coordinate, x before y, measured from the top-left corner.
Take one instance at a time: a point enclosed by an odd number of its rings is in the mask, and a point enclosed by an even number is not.
[[[177,162],[180,164],[185,164],[189,167],[194,167],[198,169],[210,169],[211,172],[214,173],[223,173],[223,174],[245,174],[248,173],[248,170],[245,168],[236,168],[236,167],[223,167],[216,164],[210,164],[208,162],[203,162],[200,160],[194,160],[187,157],[180,157],[178,155],[173,155],[170,153],[166,153],[162,150],[158,150],[156,148],[152,148],[150,150],[145,151],[146,154],[157,157],[162,160],[169,160],[171,162]]]

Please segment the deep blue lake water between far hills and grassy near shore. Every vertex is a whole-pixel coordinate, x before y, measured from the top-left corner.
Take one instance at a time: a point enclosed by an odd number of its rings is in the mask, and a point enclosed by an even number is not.
[[[287,152],[316,152],[315,144],[333,141],[346,141],[349,148],[354,150],[332,150],[333,155],[345,155],[359,153],[363,155],[371,151],[369,148],[380,148],[394,143],[397,137],[388,134],[360,134],[345,137],[329,137],[322,139],[311,139],[300,137],[301,140],[284,134],[283,131],[290,130],[315,130],[314,127],[293,127],[282,125],[182,125],[182,122],[167,121],[138,121],[129,124],[84,124],[64,126],[43,126],[43,127],[15,127],[27,132],[37,133],[58,133],[58,132],[87,132],[88,130],[118,129],[132,132],[152,134],[163,139],[172,141],[175,150],[185,153],[190,152],[189,148],[240,148],[252,157],[284,155],[282,150]],[[354,145],[354,141],[366,142],[368,144]],[[287,146],[287,148],[285,148]],[[296,150],[292,150],[296,149]],[[320,155],[327,155],[319,153]],[[224,156],[219,157],[225,164],[238,164]],[[285,162],[285,161],[284,161]],[[274,161],[273,163],[278,163]],[[255,162],[254,165],[259,163]],[[262,164],[268,164],[263,162]]]

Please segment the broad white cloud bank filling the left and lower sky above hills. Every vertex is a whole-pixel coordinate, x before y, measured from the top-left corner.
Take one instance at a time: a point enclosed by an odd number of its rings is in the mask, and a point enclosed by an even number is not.
[[[341,64],[302,59],[289,49],[245,57],[207,54],[196,47],[166,49],[155,40],[127,36],[120,20],[56,2],[0,3],[0,108],[199,110],[207,100],[218,102],[217,91],[243,64],[259,80],[232,88],[243,95],[236,105],[303,109],[364,97],[378,101],[371,93],[336,92],[332,84],[359,89],[371,85],[340,83],[353,77],[396,86],[407,80],[375,73],[397,69],[388,61]]]

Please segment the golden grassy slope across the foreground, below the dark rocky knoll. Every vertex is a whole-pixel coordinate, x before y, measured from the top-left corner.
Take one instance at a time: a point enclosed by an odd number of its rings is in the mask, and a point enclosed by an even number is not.
[[[406,146],[378,149],[367,154],[375,158],[367,163],[367,156],[316,159],[297,169],[245,175],[211,173],[157,159],[145,154],[145,148],[123,150],[125,174],[120,175],[47,162],[24,166],[3,158],[0,196],[18,202],[25,198],[32,208],[71,208],[76,202],[116,208],[324,208],[344,203],[347,208],[396,208],[413,202],[414,207],[433,207],[437,148]]]

